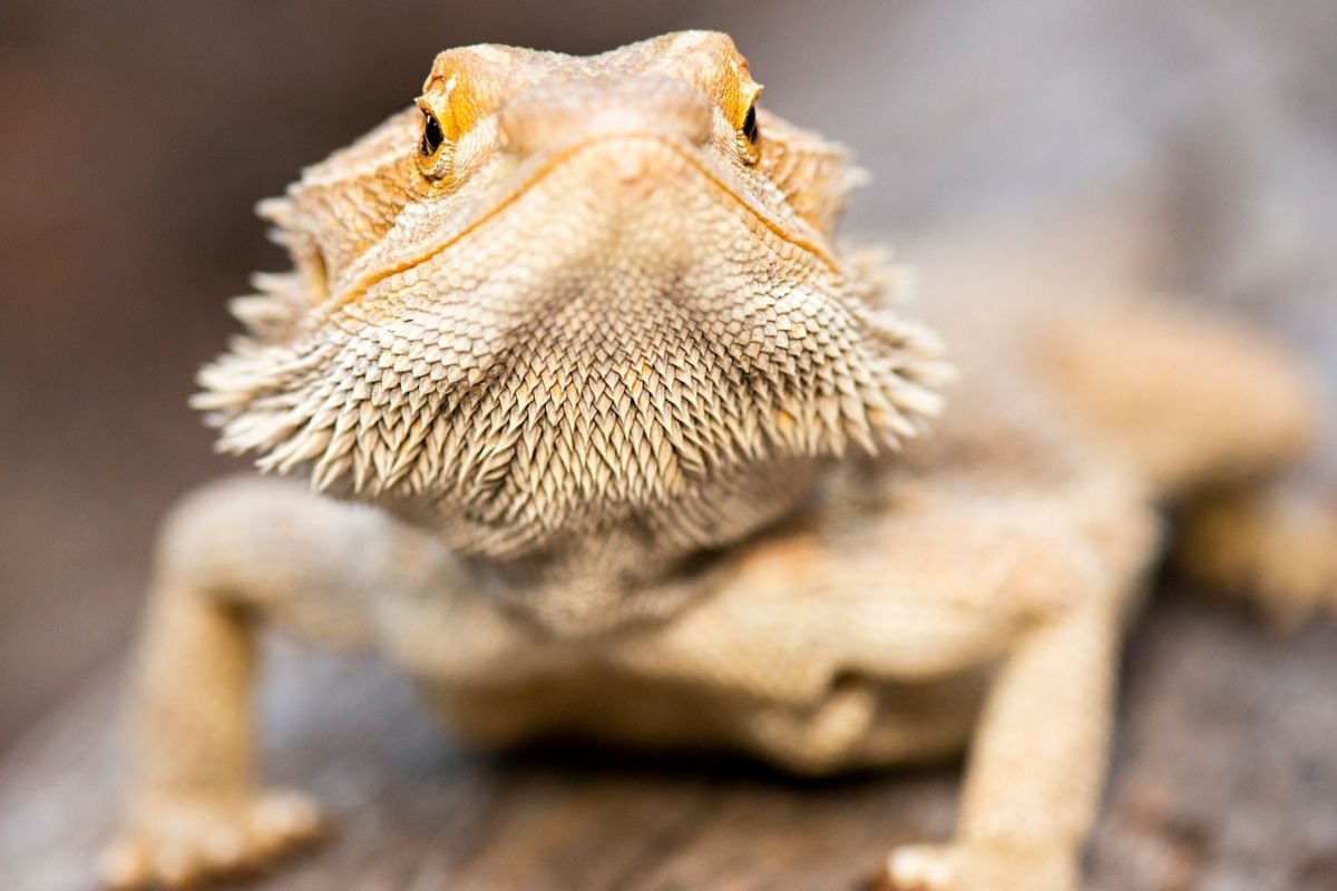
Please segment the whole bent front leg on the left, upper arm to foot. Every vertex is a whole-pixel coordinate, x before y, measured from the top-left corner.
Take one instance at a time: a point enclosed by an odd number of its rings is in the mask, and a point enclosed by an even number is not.
[[[130,800],[102,863],[110,887],[235,874],[320,835],[309,799],[259,785],[257,629],[277,620],[324,644],[364,640],[361,602],[396,581],[396,552],[413,536],[265,480],[210,486],[178,509],[160,538],[139,653]]]

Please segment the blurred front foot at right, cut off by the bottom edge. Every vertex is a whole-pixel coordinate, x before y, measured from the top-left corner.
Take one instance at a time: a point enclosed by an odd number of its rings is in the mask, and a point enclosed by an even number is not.
[[[884,891],[1074,891],[1076,866],[1062,851],[908,844],[886,858]]]

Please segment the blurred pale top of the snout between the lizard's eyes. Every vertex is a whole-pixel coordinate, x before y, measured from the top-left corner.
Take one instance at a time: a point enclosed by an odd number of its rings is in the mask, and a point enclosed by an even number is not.
[[[710,138],[711,124],[707,96],[671,77],[539,84],[512,96],[500,114],[504,144],[521,159],[616,136],[698,146]]]

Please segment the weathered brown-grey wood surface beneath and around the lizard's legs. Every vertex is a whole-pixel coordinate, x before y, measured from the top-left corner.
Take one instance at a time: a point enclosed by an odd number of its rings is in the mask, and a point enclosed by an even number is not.
[[[0,763],[0,888],[88,888],[122,781],[107,671]],[[1127,657],[1095,891],[1337,888],[1337,625],[1278,640],[1162,593]],[[461,751],[402,679],[275,647],[274,781],[341,835],[266,891],[848,888],[949,834],[957,769],[797,783],[746,764]]]

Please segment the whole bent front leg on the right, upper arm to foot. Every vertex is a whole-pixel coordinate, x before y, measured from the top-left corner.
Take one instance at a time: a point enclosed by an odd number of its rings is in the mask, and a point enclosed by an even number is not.
[[[894,851],[888,883],[1071,891],[1107,767],[1119,640],[1157,525],[1135,488],[1111,481],[969,482],[906,492],[836,544],[818,561],[832,588],[817,602],[842,617],[829,649],[849,669],[901,683],[991,676],[956,838]]]

